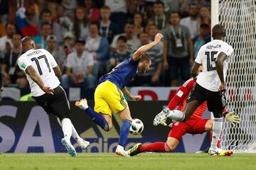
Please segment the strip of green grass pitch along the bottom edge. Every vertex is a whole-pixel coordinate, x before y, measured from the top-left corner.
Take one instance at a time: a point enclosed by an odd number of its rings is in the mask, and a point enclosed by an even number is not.
[[[68,154],[0,154],[0,169],[256,169],[256,154],[234,154],[233,157],[210,157],[208,154],[140,154],[117,157],[114,153]]]

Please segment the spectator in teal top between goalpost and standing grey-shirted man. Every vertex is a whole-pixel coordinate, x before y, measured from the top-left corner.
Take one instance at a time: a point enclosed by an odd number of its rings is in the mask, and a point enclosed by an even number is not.
[[[193,39],[193,49],[194,56],[196,57],[199,49],[205,45],[207,42],[210,42],[210,34],[208,33],[209,26],[206,23],[203,23],[199,29],[199,35]]]

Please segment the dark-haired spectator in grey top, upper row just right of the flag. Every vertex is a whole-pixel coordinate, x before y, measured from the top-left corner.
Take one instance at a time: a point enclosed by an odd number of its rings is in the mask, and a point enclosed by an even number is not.
[[[58,23],[53,22],[53,16],[50,10],[47,8],[41,12],[42,23],[50,23],[53,31],[53,35],[56,36],[58,44],[63,42],[63,30]]]

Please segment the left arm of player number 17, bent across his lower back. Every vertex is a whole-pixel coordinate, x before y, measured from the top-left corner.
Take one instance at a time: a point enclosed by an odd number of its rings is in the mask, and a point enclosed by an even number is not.
[[[31,79],[33,79],[33,81],[36,82],[36,84],[38,84],[38,86],[44,91],[46,92],[46,94],[53,94],[53,89],[50,89],[50,87],[46,87],[43,84],[42,79],[38,76],[38,74],[36,73],[36,70],[32,67],[32,66],[28,66],[25,70],[26,74],[28,74]]]

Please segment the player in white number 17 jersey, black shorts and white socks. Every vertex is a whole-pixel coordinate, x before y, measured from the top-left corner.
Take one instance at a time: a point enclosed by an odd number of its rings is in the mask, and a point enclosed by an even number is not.
[[[90,145],[83,140],[75,130],[70,120],[70,106],[65,91],[60,86],[60,68],[50,52],[44,49],[36,50],[36,44],[31,37],[22,40],[23,55],[18,58],[18,67],[23,70],[31,87],[31,94],[47,114],[53,113],[62,127],[64,138],[61,140],[68,153],[76,156],[75,148],[70,142],[72,136],[85,149]]]

